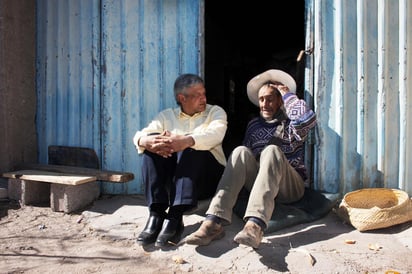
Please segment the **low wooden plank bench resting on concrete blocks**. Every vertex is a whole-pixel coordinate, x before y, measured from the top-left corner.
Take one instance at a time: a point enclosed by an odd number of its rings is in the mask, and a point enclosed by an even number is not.
[[[100,196],[97,181],[126,183],[133,173],[65,165],[21,164],[8,178],[10,199],[23,205],[50,203],[53,211],[70,213],[91,204]]]

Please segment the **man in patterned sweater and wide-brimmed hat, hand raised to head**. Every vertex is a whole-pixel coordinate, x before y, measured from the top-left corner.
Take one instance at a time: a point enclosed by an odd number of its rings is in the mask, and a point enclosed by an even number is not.
[[[304,142],[316,125],[316,115],[295,92],[295,81],[281,70],[265,71],[249,81],[247,94],[260,116],[249,122],[242,145],[227,161],[205,220],[185,243],[208,245],[221,239],[242,188],[250,192],[246,223],[234,241],[253,248],[262,240],[275,199],[291,203],[302,198],[307,179]]]

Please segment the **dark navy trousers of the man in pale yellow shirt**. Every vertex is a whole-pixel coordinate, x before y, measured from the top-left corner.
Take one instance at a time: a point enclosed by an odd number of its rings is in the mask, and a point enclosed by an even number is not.
[[[223,170],[209,151],[187,148],[169,158],[145,151],[142,177],[147,204],[195,207],[198,200],[215,194]]]

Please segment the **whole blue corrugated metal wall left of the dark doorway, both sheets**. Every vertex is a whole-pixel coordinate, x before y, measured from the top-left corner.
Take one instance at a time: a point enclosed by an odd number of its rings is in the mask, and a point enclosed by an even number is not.
[[[202,3],[39,0],[39,161],[51,144],[91,147],[103,169],[135,174],[104,193],[142,193],[132,138],[175,106],[179,74],[202,73]]]

